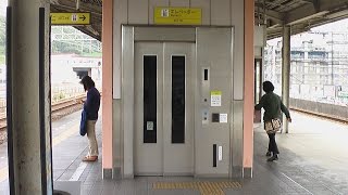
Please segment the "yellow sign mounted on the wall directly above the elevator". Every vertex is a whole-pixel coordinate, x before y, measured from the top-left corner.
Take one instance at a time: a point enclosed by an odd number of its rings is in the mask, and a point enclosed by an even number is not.
[[[154,24],[159,25],[201,25],[202,10],[190,8],[156,8]]]

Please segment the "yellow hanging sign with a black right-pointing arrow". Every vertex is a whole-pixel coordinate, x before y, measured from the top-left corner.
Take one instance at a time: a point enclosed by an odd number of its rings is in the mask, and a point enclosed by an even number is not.
[[[89,25],[90,13],[51,13],[51,25]]]

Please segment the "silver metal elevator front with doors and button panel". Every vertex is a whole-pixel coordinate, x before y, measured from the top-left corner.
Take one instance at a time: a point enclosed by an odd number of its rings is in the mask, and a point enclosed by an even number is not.
[[[240,170],[233,35],[232,27],[122,27],[123,177]]]

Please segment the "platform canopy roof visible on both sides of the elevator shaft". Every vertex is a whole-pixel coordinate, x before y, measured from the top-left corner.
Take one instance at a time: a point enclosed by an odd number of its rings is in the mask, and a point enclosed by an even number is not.
[[[348,17],[348,0],[254,0],[254,4],[256,25],[266,25],[268,39],[279,37],[284,25],[295,35]],[[102,0],[51,0],[51,12],[77,11],[90,12],[91,24],[75,28],[101,40]]]

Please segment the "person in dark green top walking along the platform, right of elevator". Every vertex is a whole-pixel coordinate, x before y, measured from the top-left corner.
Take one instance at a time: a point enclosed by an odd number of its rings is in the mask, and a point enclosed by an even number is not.
[[[263,122],[270,121],[271,119],[282,119],[282,112],[285,114],[287,120],[291,122],[290,113],[287,107],[283,104],[281,98],[273,93],[274,86],[270,81],[264,81],[262,83],[263,91],[265,94],[261,98],[260,103],[254,106],[254,109],[260,110],[262,107],[264,109]],[[266,156],[273,156],[268,159],[268,161],[273,161],[278,159],[278,147],[275,142],[275,133],[268,133],[269,141],[269,150]]]

